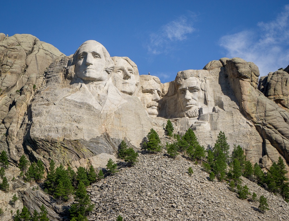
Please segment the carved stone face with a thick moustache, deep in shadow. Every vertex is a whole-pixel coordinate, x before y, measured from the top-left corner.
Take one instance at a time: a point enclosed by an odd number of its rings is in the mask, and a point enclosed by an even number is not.
[[[159,104],[158,101],[161,94],[161,86],[155,80],[151,79],[142,88],[141,102],[147,113],[156,117],[159,114]]]

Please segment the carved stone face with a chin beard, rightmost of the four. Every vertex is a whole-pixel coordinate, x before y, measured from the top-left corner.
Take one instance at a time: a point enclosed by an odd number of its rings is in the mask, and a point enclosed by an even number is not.
[[[197,117],[199,113],[200,98],[202,96],[201,80],[196,77],[190,77],[178,88],[179,99],[184,115],[188,117]]]

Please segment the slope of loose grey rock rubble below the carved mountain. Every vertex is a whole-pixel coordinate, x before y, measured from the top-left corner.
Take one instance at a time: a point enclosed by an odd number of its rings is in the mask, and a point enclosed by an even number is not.
[[[158,154],[139,154],[134,167],[95,183],[88,192],[95,209],[88,220],[289,220],[289,204],[280,196],[242,178],[270,210],[258,211],[258,202],[238,199],[228,184],[208,181],[208,174],[183,156],[175,160]],[[188,167],[194,173],[189,176]]]

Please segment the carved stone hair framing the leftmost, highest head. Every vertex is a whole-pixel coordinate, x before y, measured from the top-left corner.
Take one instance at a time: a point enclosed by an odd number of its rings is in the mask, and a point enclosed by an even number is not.
[[[112,72],[112,70],[114,69],[114,62],[112,61],[112,59],[110,58],[110,54],[108,53],[108,51],[106,50],[106,48],[99,42],[95,41],[95,40],[88,40],[85,41],[84,43],[82,43],[79,48],[75,51],[73,57],[71,60],[68,61],[68,66],[73,66],[76,64],[77,62],[77,57],[78,57],[78,53],[79,53],[79,49],[85,45],[85,44],[93,44],[93,45],[100,45],[104,54],[104,58],[105,58],[105,71],[110,74]]]

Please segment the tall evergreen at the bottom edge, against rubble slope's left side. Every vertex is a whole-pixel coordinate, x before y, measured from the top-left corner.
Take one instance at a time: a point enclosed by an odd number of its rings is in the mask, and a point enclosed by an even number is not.
[[[83,219],[94,207],[90,202],[85,185],[82,182],[79,183],[77,190],[75,191],[74,201],[69,212],[71,218],[75,218],[75,220]]]

